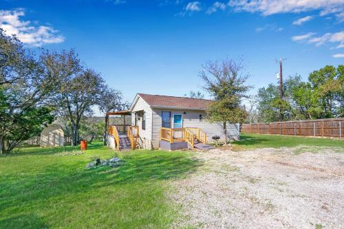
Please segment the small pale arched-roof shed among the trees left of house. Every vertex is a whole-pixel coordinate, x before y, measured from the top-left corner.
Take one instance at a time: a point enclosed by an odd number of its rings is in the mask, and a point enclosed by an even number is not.
[[[41,133],[41,147],[63,146],[64,138],[63,129],[56,124],[52,124],[45,127]]]

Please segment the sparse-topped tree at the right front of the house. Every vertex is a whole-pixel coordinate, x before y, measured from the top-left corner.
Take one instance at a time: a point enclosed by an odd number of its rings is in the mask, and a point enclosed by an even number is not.
[[[242,98],[250,86],[246,85],[248,74],[243,72],[242,61],[226,59],[208,62],[202,66],[200,78],[204,80],[204,89],[215,101],[208,107],[208,120],[222,122],[227,143],[227,122],[242,123],[246,119],[246,111],[241,107]]]

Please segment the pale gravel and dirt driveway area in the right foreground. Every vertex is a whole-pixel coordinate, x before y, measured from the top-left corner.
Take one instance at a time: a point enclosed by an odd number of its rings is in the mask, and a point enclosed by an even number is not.
[[[303,151],[305,153],[301,153]],[[298,148],[197,153],[173,182],[175,228],[344,228],[344,152]]]

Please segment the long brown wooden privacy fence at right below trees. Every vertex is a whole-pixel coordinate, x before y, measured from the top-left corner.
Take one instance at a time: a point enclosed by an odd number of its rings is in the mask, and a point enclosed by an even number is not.
[[[344,118],[242,124],[242,133],[268,133],[343,139]]]

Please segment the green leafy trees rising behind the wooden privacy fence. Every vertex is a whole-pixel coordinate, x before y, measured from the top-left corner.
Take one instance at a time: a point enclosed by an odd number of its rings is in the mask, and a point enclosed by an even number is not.
[[[325,66],[310,74],[308,82],[291,76],[283,84],[285,100],[279,99],[279,87],[268,85],[258,91],[259,120],[277,121],[279,109],[283,120],[307,120],[343,117],[344,65]]]

